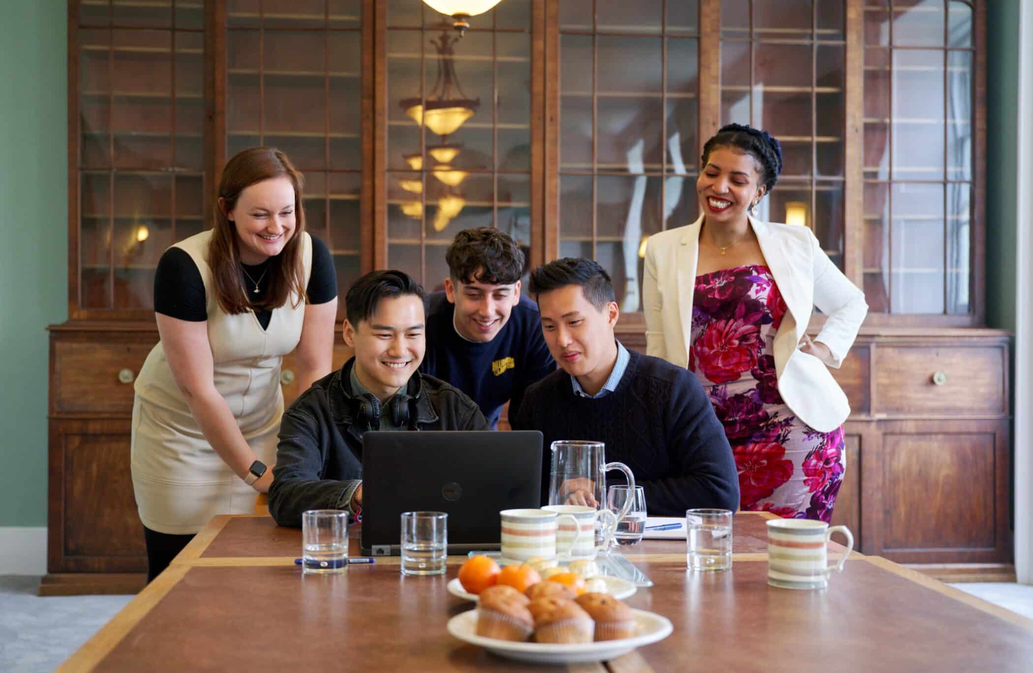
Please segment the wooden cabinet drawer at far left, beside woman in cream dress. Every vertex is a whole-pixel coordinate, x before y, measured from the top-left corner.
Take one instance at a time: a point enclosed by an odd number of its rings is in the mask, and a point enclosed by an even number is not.
[[[55,342],[52,413],[128,417],[133,381],[153,347],[139,342]]]

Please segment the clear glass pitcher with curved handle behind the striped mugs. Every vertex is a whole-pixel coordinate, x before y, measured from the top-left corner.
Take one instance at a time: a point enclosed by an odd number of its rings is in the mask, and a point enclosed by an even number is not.
[[[611,470],[623,472],[628,486],[632,489],[635,487],[635,477],[628,466],[623,462],[606,462],[605,446],[602,442],[553,442],[553,469],[549,477],[550,505],[587,505],[597,510],[605,509],[606,473]],[[609,549],[617,523],[624,519],[633,504],[629,499],[615,518],[603,523],[601,550]]]

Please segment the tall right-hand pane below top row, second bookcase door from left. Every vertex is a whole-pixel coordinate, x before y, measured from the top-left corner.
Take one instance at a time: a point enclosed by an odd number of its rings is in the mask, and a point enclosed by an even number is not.
[[[330,52],[330,166],[363,167],[362,35],[327,33]]]

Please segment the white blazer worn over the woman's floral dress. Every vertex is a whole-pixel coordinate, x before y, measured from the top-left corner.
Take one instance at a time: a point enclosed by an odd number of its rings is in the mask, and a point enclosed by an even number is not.
[[[654,234],[646,248],[646,352],[682,367],[689,362],[702,221],[700,216]],[[850,405],[825,364],[839,367],[850,350],[868,314],[865,293],[828,259],[809,228],[749,221],[787,309],[774,344],[779,393],[801,420],[828,432],[850,415]],[[815,306],[828,316],[814,340],[832,352],[827,362],[797,349]]]

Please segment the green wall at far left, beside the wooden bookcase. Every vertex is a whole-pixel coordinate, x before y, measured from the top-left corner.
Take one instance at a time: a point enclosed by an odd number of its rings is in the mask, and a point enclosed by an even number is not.
[[[67,306],[65,0],[0,0],[0,526],[46,524],[46,325]]]

